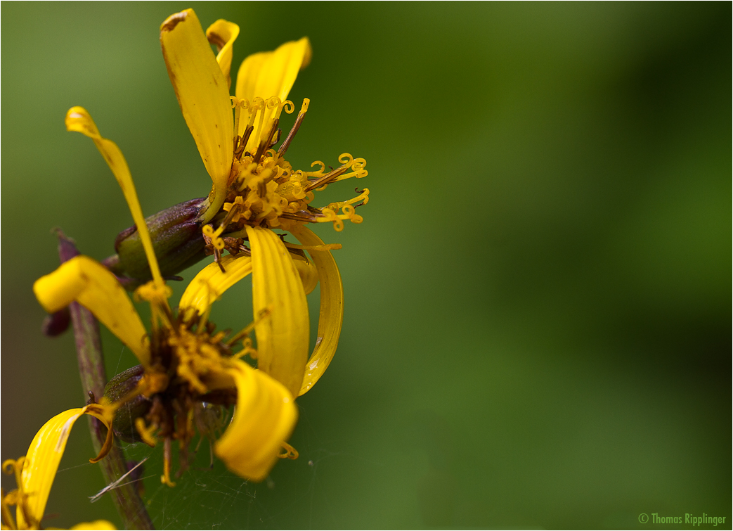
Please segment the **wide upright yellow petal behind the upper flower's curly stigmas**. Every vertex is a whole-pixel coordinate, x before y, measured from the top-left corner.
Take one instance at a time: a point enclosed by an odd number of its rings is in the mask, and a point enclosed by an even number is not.
[[[275,51],[248,56],[237,72],[237,98],[246,98],[251,102],[255,97],[268,100],[277,96],[281,101],[286,100],[298,72],[308,66],[312,54],[308,37],[303,37],[301,40],[284,43]],[[254,131],[247,142],[248,151],[257,147],[260,136],[269,133],[268,127],[275,109],[265,109],[263,112],[263,119],[255,122]],[[246,123],[240,122],[242,131],[237,131],[237,134],[242,134],[245,127]]]

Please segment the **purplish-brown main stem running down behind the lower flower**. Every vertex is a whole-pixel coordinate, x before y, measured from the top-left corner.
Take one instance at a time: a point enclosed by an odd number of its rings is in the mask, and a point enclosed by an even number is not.
[[[57,230],[56,235],[59,238],[59,258],[62,263],[79,254],[71,238],[67,238],[61,230]],[[84,395],[89,398],[92,398],[92,395],[95,399],[102,398],[104,386],[107,383],[107,374],[104,368],[99,323],[92,315],[92,312],[89,312],[80,304],[73,302],[69,305],[69,311],[74,326],[76,357],[79,363],[79,376],[81,376],[81,387],[84,388]],[[107,428],[95,417],[91,415],[86,417],[89,419],[92,444],[95,452],[98,453],[106,439]],[[102,475],[107,485],[128,472],[125,453],[122,452],[122,448],[119,447],[117,441],[115,441],[110,453],[99,464],[102,467]],[[109,494],[126,529],[154,529],[145,504],[138,493],[136,482],[123,482],[122,485],[110,489]]]

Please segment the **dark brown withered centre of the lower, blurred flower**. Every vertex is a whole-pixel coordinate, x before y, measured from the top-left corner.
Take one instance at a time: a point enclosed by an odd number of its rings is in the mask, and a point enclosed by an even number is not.
[[[215,332],[216,326],[207,321],[208,315],[194,310],[181,310],[175,315],[160,304],[158,293],[151,286],[148,283],[136,291],[139,299],[150,301],[152,313],[160,319],[160,326],[154,326],[150,334],[150,366],[138,367],[136,374],[131,375],[133,380],[123,383],[125,389],[133,387],[132,392],[118,392],[125,395],[123,402],[139,396],[134,405],[136,418],[116,418],[115,422],[134,425],[138,440],[150,446],[155,446],[157,438],[163,439],[161,480],[172,486],[172,442],[176,440],[180,447],[180,475],[190,462],[188,450],[196,434],[194,428],[198,428],[202,440],[216,439],[215,432],[225,428],[223,422],[213,420],[223,418],[224,408],[236,403],[234,381],[227,373],[233,360],[246,354],[257,357],[249,337],[254,323],[225,340],[228,333]],[[237,343],[243,348],[235,353],[233,347]],[[124,413],[124,409],[120,410],[118,417]]]

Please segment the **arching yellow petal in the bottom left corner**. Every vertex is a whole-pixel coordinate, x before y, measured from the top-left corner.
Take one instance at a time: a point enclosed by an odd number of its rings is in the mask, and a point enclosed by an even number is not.
[[[36,521],[43,518],[48,493],[51,491],[56,470],[59,469],[59,462],[64,455],[71,428],[74,422],[86,413],[87,407],[69,409],[56,415],[36,433],[28,448],[21,481],[23,492],[28,494],[26,508],[29,510],[29,516]],[[111,433],[111,425],[108,422],[106,425]],[[16,510],[15,518],[18,520],[19,529],[27,529],[28,522],[20,508]]]

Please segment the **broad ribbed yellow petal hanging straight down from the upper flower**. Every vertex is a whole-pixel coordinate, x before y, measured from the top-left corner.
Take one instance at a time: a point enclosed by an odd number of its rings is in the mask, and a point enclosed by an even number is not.
[[[252,250],[252,304],[257,366],[297,396],[308,358],[308,303],[290,252],[275,232],[246,227]]]

